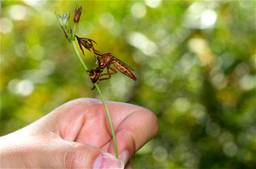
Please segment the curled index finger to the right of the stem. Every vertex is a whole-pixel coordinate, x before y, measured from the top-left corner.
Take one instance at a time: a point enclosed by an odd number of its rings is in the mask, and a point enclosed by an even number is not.
[[[115,111],[113,107],[117,106],[116,104],[119,104],[119,107],[122,107],[122,109]],[[138,149],[157,135],[159,130],[158,120],[150,110],[140,106],[113,102],[108,105],[110,111],[114,114],[114,121],[122,120],[115,131],[116,143],[118,144],[120,158],[127,162]],[[125,118],[122,118],[122,115],[118,115],[123,114],[125,110],[132,110],[132,112],[129,112],[129,115]],[[109,152],[115,152],[113,141],[110,143]]]

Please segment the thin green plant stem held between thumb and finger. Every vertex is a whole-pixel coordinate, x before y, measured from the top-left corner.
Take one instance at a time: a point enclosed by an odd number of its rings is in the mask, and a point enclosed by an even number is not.
[[[74,32],[75,33],[75,32]],[[83,65],[86,73],[89,75],[89,72],[88,72],[88,68],[87,66],[85,65],[84,63],[84,60],[82,59],[82,57],[80,56],[80,53],[79,51],[77,50],[77,47],[76,47],[76,43],[75,41],[70,41],[72,47],[73,47],[73,50],[75,51],[76,53],[76,56],[77,58],[79,59],[79,61],[81,62],[81,64]],[[109,108],[107,108],[107,104],[106,104],[106,101],[101,93],[101,90],[99,89],[99,86],[97,83],[94,83],[94,86],[97,88],[97,91],[99,93],[99,97],[101,97],[101,100],[102,100],[102,103],[103,105],[105,106],[105,109],[106,109],[106,112],[107,112],[107,117],[109,118],[109,123],[110,123],[110,128],[111,128],[111,132],[112,132],[112,137],[113,137],[113,141],[114,141],[114,146],[115,146],[115,157],[118,158],[118,146],[116,144],[116,139],[115,139],[115,131],[114,131],[114,127],[113,127],[113,124],[112,124],[112,120],[111,120],[111,116],[110,116],[110,112],[109,112]]]

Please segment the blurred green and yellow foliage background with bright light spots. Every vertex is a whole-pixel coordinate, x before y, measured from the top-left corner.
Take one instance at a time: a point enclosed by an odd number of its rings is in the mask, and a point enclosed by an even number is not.
[[[1,135],[99,98],[54,14],[72,26],[76,5],[77,35],[136,70],[99,83],[103,95],[158,116],[134,168],[256,167],[255,1],[1,1]]]

